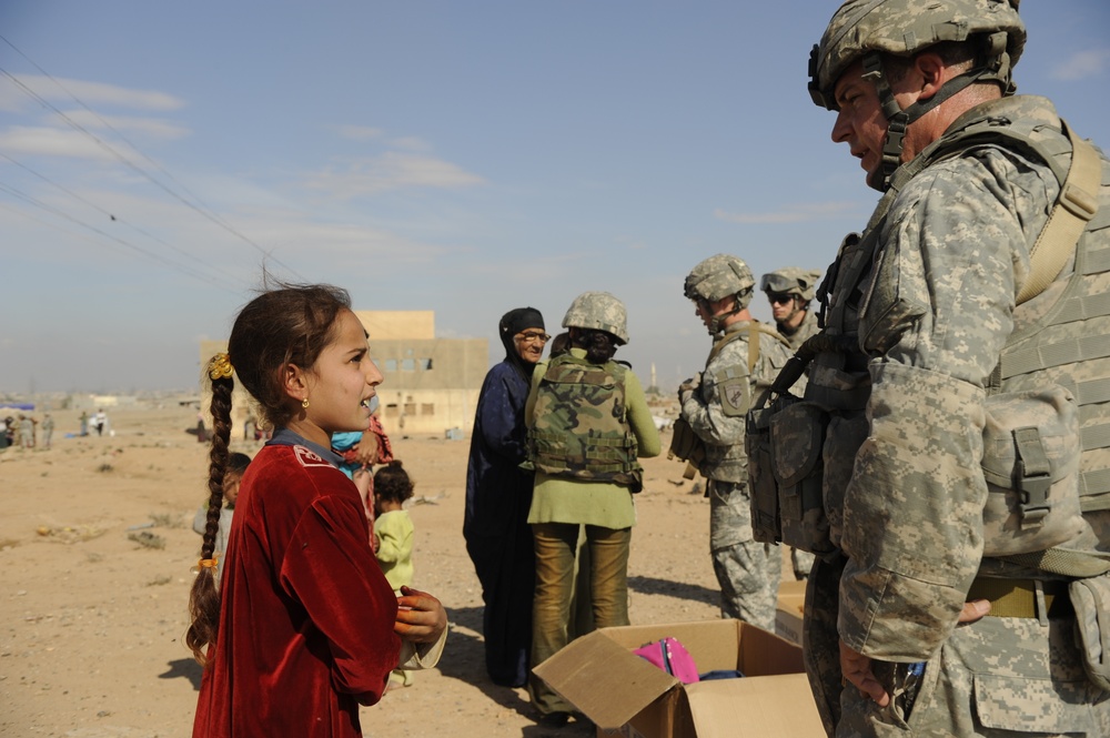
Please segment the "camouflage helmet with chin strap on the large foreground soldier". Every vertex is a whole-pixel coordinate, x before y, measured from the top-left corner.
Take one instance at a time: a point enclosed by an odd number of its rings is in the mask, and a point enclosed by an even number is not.
[[[901,164],[906,128],[973,82],[997,81],[1002,94],[1012,94],[1010,71],[1026,44],[1026,27],[1018,17],[1019,0],[847,0],[833,16],[820,43],[809,55],[809,94],[814,102],[837,110],[837,80],[857,59],[875,84],[888,121],[882,149],[885,178]],[[944,41],[981,39],[977,64],[949,80],[928,100],[906,110],[898,107],[882,69],[881,54],[910,58]],[[886,189],[887,184],[884,183]]]

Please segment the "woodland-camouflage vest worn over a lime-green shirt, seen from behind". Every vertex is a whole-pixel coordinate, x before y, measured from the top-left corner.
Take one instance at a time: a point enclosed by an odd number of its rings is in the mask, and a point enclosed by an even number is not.
[[[536,388],[528,461],[553,476],[643,489],[636,435],[628,426],[625,370],[565,354],[551,360]]]

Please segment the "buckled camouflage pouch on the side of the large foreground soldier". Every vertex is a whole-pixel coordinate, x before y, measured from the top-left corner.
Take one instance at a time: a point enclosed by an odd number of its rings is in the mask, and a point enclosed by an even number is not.
[[[1012,556],[1076,540],[1079,412],[1060,386],[987,397],[982,433],[983,556]]]

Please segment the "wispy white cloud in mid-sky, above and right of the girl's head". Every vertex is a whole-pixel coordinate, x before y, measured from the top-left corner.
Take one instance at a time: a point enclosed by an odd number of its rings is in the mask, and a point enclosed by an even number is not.
[[[345,169],[327,168],[310,175],[305,186],[346,200],[403,188],[454,189],[483,182],[481,176],[441,159],[387,152],[355,160]]]

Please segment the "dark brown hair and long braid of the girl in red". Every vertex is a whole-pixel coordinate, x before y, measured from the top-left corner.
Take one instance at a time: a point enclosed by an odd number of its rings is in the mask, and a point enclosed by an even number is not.
[[[185,631],[185,645],[201,665],[206,663],[203,649],[215,643],[220,624],[220,592],[212,563],[223,505],[223,477],[231,457],[228,444],[235,387],[232,370],[258,401],[262,417],[274,427],[284,426],[296,412],[295,403],[285,394],[285,366],[307,370],[315,364],[332,341],[335,319],[344,310],[351,310],[351,296],[345,290],[327,284],[281,284],[243,307],[231,328],[228,353],[216,354],[205,367],[212,383],[209,510],[199,573],[189,593],[192,624]]]

